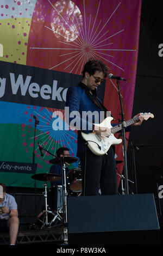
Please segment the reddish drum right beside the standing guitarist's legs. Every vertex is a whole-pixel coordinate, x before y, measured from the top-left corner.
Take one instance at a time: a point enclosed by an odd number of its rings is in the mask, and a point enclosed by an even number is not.
[[[70,190],[73,192],[82,192],[82,170],[80,168],[74,168],[72,171],[74,180],[71,182]]]

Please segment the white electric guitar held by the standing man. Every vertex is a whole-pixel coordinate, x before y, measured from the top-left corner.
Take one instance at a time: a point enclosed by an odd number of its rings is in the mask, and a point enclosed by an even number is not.
[[[154,115],[151,113],[141,113],[141,116],[143,117],[143,119],[147,120],[148,118],[154,118]],[[107,151],[109,150],[109,148],[111,147],[111,145],[117,145],[120,144],[122,142],[122,139],[117,139],[114,136],[114,133],[120,131],[122,129],[122,124],[118,124],[116,126],[111,126],[111,121],[112,121],[112,117],[107,117],[105,118],[101,124],[95,124],[96,126],[99,127],[108,127],[111,129],[111,134],[109,137],[105,137],[105,136],[101,136],[98,135],[95,132],[91,132],[91,133],[82,133],[82,137],[85,139],[85,141],[87,142],[87,146],[89,147],[89,149],[92,151],[92,153],[94,153],[97,156],[100,155],[104,155],[107,154]],[[126,121],[126,127],[136,123],[137,121],[139,121],[139,117],[134,117],[128,121]]]

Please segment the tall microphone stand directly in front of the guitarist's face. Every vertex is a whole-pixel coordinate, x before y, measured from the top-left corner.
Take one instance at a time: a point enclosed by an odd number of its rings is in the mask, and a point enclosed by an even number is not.
[[[126,138],[125,138],[125,128],[126,128],[126,121],[124,119],[124,112],[123,112],[123,103],[122,103],[122,95],[120,93],[120,82],[117,80],[118,85],[118,94],[120,97],[120,105],[121,105],[121,121],[122,121],[122,145],[123,145],[123,159],[124,159],[124,174],[125,174],[125,187],[126,193],[129,194],[129,186],[128,186],[128,170],[127,170],[127,148],[126,148]]]

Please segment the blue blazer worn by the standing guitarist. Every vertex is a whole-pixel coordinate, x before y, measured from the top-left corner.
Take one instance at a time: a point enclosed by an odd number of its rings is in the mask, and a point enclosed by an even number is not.
[[[98,101],[100,103],[99,105],[98,103],[96,105],[95,101],[93,100],[93,96],[89,93],[89,88],[86,87],[85,84],[83,84],[82,82],[79,83],[78,86],[70,87],[67,90],[66,107],[69,107],[69,125],[76,127],[76,129],[78,130],[77,155],[85,151],[85,141],[82,138],[80,131],[85,133],[92,132],[94,129],[93,123],[99,124],[105,118],[104,112],[106,112],[107,109],[102,105],[102,102],[99,99]],[[84,112],[87,111],[97,111],[96,120],[95,115],[92,115],[91,119],[88,118],[88,115],[84,114]],[[102,115],[100,114],[101,111],[103,111]],[[115,125],[116,124],[113,124],[112,126]]]

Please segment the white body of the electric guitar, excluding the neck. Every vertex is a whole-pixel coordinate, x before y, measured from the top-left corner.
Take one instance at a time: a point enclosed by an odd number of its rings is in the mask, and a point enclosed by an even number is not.
[[[108,127],[111,128],[112,117],[105,118],[101,124],[95,124],[96,126]],[[109,137],[99,136],[95,132],[91,132],[89,134],[82,132],[82,136],[87,141],[87,147],[95,154],[95,155],[104,155],[109,150],[111,145],[117,145],[122,142],[122,139],[117,139],[113,133]],[[101,148],[101,149],[100,149]]]

